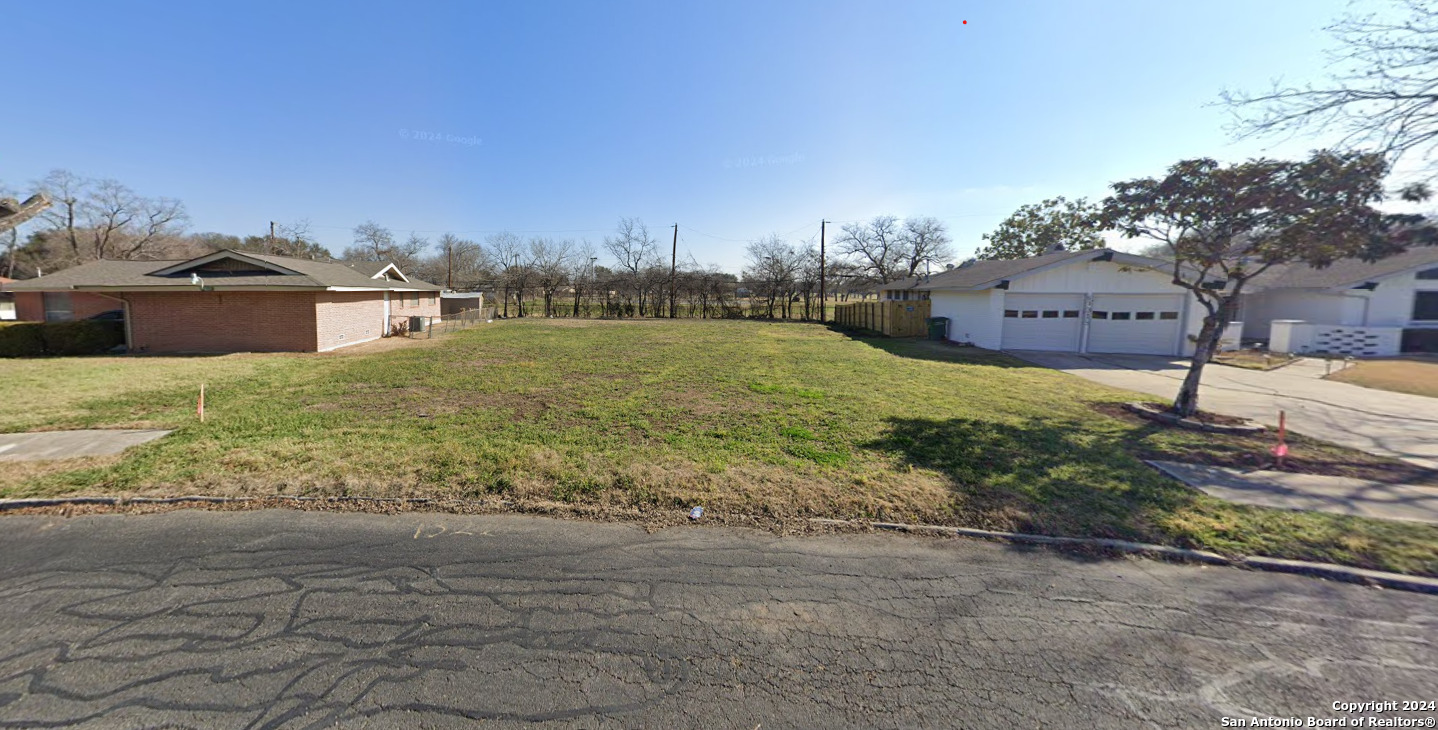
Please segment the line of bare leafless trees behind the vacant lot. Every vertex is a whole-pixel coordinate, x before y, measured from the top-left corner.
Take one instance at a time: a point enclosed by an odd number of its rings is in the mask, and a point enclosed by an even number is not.
[[[673,251],[638,218],[621,218],[598,243],[508,231],[483,240],[453,233],[430,240],[368,220],[354,227],[351,244],[335,257],[303,220],[278,224],[273,233],[191,233],[181,201],[145,197],[115,180],[56,170],[23,190],[0,184],[0,198],[40,191],[52,207],[0,234],[0,276],[24,279],[101,259],[187,259],[233,249],[394,262],[446,289],[492,293],[500,316],[818,319],[821,290],[830,303],[866,296],[877,285],[942,270],[953,259],[942,223],[893,216],[831,228],[824,266],[817,236],[758,239],[745,249],[739,273],[700,264],[687,253],[672,260]]]

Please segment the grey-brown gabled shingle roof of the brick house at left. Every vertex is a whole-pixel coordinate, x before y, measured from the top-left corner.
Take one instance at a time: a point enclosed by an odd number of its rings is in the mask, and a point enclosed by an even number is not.
[[[233,260],[252,264],[252,269],[239,272],[196,272],[220,260]],[[243,289],[339,289],[339,290],[424,290],[437,292],[440,287],[420,280],[393,282],[375,277],[385,269],[394,266],[390,262],[367,262],[364,270],[341,262],[316,262],[311,259],[295,259],[290,256],[272,256],[250,251],[220,250],[206,256],[187,260],[167,262],[89,262],[37,279],[26,279],[6,285],[12,292],[53,292],[53,290],[127,290],[127,289],[194,289],[191,273],[198,273],[206,289],[243,290]],[[370,270],[374,269],[374,270]],[[367,273],[367,270],[370,273]],[[398,269],[394,269],[398,273]],[[400,274],[404,277],[404,274]]]

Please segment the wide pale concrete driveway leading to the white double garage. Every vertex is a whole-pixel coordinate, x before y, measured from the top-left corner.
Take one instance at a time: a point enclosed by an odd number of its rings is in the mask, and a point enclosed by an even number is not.
[[[1011,355],[1114,388],[1173,398],[1186,359],[1153,355],[1077,355],[1012,351]],[[1322,379],[1322,364],[1300,361],[1276,371],[1227,365],[1204,369],[1199,407],[1288,428],[1372,454],[1438,468],[1438,398],[1376,391]]]

